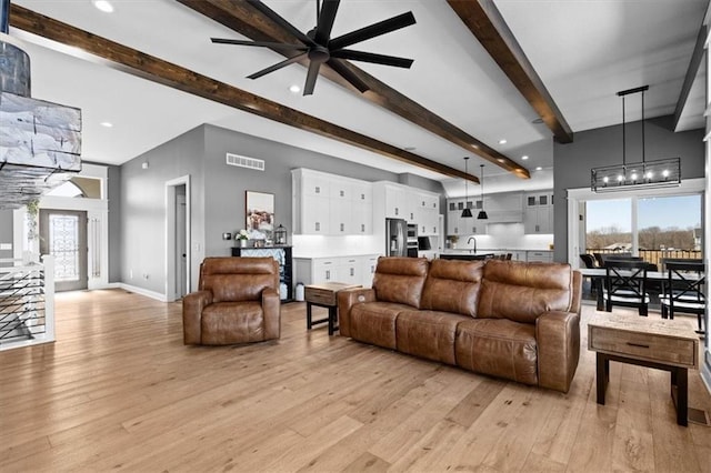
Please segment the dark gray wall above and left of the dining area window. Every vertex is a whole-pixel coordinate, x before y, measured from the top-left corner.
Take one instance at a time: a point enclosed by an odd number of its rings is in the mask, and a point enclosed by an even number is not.
[[[673,117],[644,122],[645,160],[681,158],[682,179],[704,177],[703,130],[675,133]],[[641,121],[627,124],[627,162],[642,160]],[[622,163],[622,125],[575,132],[569,144],[553,145],[555,261],[568,261],[567,190],[590,187],[590,170]]]

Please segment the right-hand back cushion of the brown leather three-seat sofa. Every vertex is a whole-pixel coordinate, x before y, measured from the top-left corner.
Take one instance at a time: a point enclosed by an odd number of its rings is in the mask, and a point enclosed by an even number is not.
[[[535,323],[547,311],[568,312],[572,270],[565,263],[487,261],[477,316]]]

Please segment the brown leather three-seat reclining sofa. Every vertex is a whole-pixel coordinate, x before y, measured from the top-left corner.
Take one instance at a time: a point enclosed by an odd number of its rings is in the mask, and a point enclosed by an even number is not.
[[[568,392],[582,279],[569,264],[380,258],[372,289],[339,291],[360,342]]]

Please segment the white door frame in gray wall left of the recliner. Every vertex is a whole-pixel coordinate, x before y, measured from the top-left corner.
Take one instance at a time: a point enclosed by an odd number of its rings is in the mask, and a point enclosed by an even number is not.
[[[190,174],[166,181],[166,301],[178,299],[176,284],[176,188],[186,187],[186,292],[191,292],[191,210]]]

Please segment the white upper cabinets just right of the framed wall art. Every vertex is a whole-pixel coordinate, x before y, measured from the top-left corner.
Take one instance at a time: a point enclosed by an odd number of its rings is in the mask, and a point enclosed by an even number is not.
[[[372,234],[372,183],[310,169],[291,173],[294,234]]]

